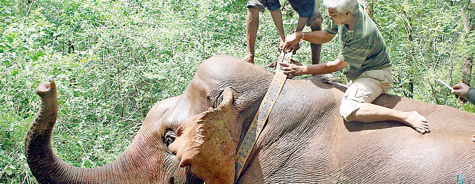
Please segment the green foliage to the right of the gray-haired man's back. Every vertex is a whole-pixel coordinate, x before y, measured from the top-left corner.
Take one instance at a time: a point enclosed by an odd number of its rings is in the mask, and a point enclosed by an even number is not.
[[[374,20],[393,61],[395,82],[390,93],[473,112],[473,105],[462,105],[435,82],[435,78],[441,78],[450,85],[460,83],[461,62],[473,53],[471,46],[464,44],[474,39],[464,38],[458,7],[449,1],[373,2]],[[413,93],[409,91],[410,83]]]

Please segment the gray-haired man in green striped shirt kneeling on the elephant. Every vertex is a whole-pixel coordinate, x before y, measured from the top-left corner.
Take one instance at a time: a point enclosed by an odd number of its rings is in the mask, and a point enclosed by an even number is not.
[[[280,63],[285,74],[327,74],[343,70],[350,80],[340,105],[348,122],[398,121],[421,134],[429,131],[427,120],[416,111],[402,112],[371,104],[387,92],[392,82],[391,61],[386,44],[373,20],[357,0],[323,0],[331,21],[326,30],[296,32],[286,37],[284,49],[291,50],[301,39],[323,44],[340,37],[340,53],[334,61],[313,65]]]

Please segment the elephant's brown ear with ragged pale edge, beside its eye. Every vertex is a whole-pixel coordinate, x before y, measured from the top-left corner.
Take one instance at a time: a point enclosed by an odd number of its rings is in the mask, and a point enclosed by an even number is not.
[[[176,154],[180,166],[206,184],[233,184],[239,132],[238,112],[233,108],[233,92],[227,87],[217,108],[192,117],[178,131],[168,149]]]

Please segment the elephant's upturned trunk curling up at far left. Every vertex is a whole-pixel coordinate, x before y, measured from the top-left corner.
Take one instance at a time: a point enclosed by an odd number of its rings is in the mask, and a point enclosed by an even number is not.
[[[36,92],[42,99],[41,107],[36,114],[26,136],[25,149],[28,165],[33,175],[42,184],[64,183],[118,183],[109,173],[115,164],[101,168],[81,169],[70,166],[62,161],[51,148],[51,131],[56,122],[58,96],[53,80],[50,84],[43,83]]]

